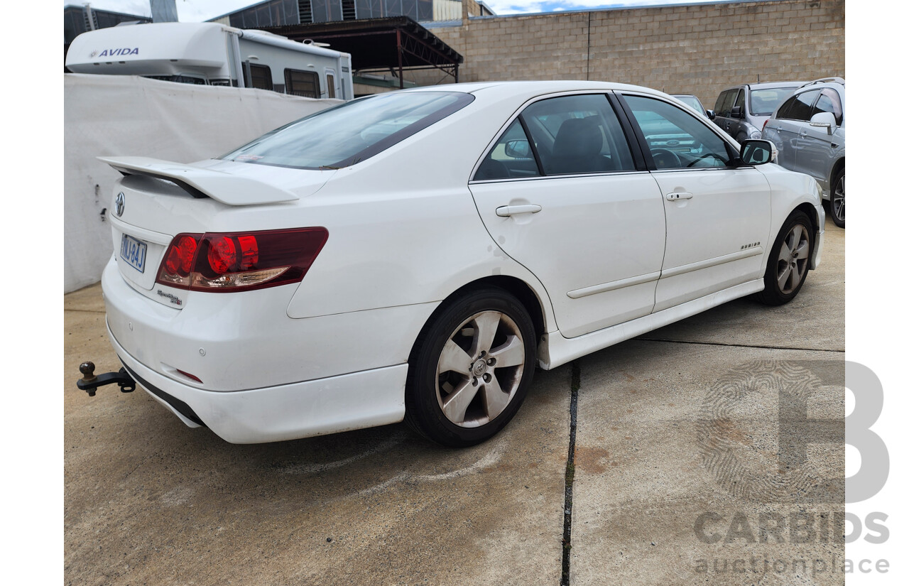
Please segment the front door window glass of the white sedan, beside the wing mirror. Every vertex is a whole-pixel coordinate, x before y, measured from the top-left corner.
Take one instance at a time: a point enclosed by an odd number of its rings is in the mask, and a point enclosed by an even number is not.
[[[654,98],[626,95],[644,141],[660,169],[725,167],[731,159],[722,138],[693,115]]]

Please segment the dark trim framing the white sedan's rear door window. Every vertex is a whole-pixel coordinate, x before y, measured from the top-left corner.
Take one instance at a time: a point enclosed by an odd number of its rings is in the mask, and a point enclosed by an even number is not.
[[[540,155],[536,152],[536,146],[534,141],[531,139],[531,134],[527,124],[524,122],[524,110],[526,110],[530,105],[536,104],[537,102],[542,102],[543,100],[549,100],[551,98],[558,97],[570,97],[573,95],[604,95],[606,100],[612,106],[615,116],[619,120],[619,124],[622,127],[622,132],[624,133],[625,142],[628,143],[628,149],[631,151],[632,159],[634,160],[634,170],[621,170],[621,171],[600,171],[600,172],[590,172],[590,173],[572,173],[572,174],[545,174],[543,171],[543,163],[540,160]],[[645,168],[646,163],[644,162],[644,154],[641,153],[640,147],[631,139],[631,126],[628,123],[624,111],[621,107],[618,107],[614,103],[614,96],[616,93],[614,90],[578,90],[578,91],[566,91],[566,92],[554,92],[553,94],[544,94],[536,95],[533,98],[528,99],[524,104],[521,104],[518,107],[517,111],[505,121],[505,124],[502,125],[502,128],[499,129],[493,138],[493,140],[486,145],[486,148],[483,151],[483,154],[480,155],[480,158],[474,164],[474,170],[471,171],[470,179],[468,183],[470,184],[489,184],[489,183],[501,183],[501,182],[514,182],[514,181],[537,181],[541,179],[564,179],[567,177],[589,177],[591,175],[619,175],[619,174],[631,174],[631,173],[645,173],[647,169]],[[490,152],[495,148],[495,145],[498,144],[499,139],[502,137],[502,134],[508,131],[511,128],[511,125],[514,124],[514,120],[520,120],[521,127],[524,129],[524,134],[527,135],[527,141],[530,143],[531,151],[534,154],[534,160],[536,162],[536,169],[539,173],[533,177],[503,177],[500,179],[477,179],[476,174],[480,170],[480,165],[486,160],[486,157]],[[636,148],[635,148],[636,147]]]

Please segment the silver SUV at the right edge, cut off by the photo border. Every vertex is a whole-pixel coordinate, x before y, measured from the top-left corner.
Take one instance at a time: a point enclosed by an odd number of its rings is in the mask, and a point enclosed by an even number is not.
[[[830,215],[846,225],[846,81],[828,77],[804,84],[764,125],[779,150],[776,162],[809,174],[830,200]]]

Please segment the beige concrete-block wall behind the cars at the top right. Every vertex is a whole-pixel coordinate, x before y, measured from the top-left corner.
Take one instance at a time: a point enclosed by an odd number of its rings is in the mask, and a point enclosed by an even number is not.
[[[430,30],[464,55],[460,81],[596,79],[695,94],[730,85],[845,76],[844,0],[486,17]],[[589,41],[589,42],[588,42]],[[442,72],[407,75],[454,81]]]

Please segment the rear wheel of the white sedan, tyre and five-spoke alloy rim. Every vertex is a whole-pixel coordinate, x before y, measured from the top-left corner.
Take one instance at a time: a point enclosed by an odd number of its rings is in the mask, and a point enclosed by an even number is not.
[[[408,361],[405,422],[450,447],[484,442],[514,417],[534,377],[534,323],[513,295],[478,289],[445,303]]]

